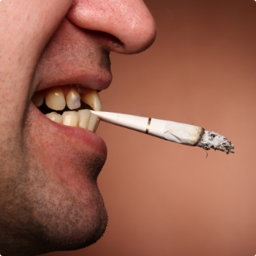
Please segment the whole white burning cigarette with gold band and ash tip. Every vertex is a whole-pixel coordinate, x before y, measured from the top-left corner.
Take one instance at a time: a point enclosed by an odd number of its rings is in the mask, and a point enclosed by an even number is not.
[[[94,110],[91,110],[91,113],[97,115],[100,120],[110,124],[133,129],[174,143],[198,146],[206,151],[213,148],[227,154],[234,153],[232,151],[234,145],[227,138],[216,132],[206,131],[202,127],[122,113]]]

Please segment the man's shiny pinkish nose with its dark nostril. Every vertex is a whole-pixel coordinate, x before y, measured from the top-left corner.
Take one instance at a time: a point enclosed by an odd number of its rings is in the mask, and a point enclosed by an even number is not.
[[[143,0],[75,0],[67,18],[97,32],[108,50],[139,53],[156,37],[156,25]]]

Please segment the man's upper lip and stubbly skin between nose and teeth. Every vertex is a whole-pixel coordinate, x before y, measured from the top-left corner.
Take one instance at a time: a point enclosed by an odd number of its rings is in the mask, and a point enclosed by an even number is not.
[[[76,31],[68,20],[64,20],[42,53],[34,74],[35,91],[66,85],[101,91],[110,86],[109,50],[89,32],[75,33],[75,38],[71,38],[70,29]]]

